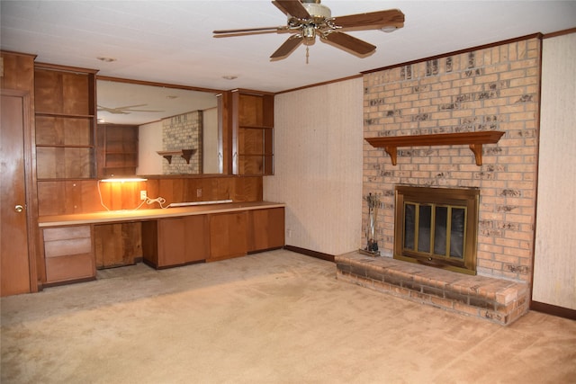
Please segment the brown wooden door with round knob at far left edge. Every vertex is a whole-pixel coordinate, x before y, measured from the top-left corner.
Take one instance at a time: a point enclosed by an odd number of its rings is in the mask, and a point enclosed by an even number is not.
[[[24,97],[2,91],[0,124],[0,295],[30,292],[24,174]]]

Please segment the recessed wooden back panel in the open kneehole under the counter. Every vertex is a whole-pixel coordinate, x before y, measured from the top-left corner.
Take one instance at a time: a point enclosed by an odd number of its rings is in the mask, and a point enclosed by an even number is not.
[[[137,263],[142,258],[141,223],[94,225],[96,269]]]

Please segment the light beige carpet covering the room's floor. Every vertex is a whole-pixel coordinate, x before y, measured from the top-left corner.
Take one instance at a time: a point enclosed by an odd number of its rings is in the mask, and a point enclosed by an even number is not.
[[[574,383],[576,322],[512,326],[279,250],[4,298],[2,383]]]

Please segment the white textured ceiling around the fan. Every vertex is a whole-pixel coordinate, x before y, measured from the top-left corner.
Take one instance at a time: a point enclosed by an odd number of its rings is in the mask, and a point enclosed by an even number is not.
[[[2,49],[35,54],[39,62],[99,69],[101,76],[269,92],[576,27],[576,1],[324,0],[333,16],[398,8],[406,22],[392,33],[350,32],[377,46],[368,58],[317,41],[306,64],[303,45],[284,60],[270,61],[286,34],[212,37],[213,30],[285,25],[284,13],[266,0],[2,0],[0,4]],[[97,59],[101,57],[116,61],[104,63]]]

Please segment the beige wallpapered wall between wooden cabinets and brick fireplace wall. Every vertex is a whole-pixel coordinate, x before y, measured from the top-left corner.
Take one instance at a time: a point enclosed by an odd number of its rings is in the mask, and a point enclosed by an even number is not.
[[[329,255],[360,247],[362,78],[275,96],[275,175],[266,201],[286,203],[286,244]]]

